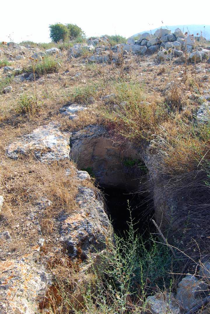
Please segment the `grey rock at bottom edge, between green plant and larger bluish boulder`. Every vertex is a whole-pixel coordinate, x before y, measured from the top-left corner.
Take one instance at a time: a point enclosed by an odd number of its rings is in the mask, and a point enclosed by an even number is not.
[[[157,294],[146,299],[146,307],[152,314],[180,314],[178,304],[175,302],[174,294]]]

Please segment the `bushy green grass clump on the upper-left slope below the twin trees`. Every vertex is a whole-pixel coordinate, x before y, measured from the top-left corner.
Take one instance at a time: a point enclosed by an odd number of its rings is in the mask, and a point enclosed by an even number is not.
[[[55,60],[53,57],[45,57],[44,62],[45,62],[45,68],[44,68],[43,61],[39,61],[36,63],[36,66],[35,66],[36,78],[39,78],[42,75],[44,75],[45,71],[46,71],[46,74],[50,74],[50,73],[58,72],[60,68],[60,65],[58,64],[60,61]],[[22,73],[28,73],[28,74],[33,73],[32,65],[29,65],[28,67],[24,67],[22,70]]]

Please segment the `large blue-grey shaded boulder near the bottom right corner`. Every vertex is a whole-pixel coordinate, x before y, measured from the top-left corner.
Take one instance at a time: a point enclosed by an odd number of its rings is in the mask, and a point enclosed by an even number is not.
[[[187,275],[178,284],[176,299],[186,311],[189,311],[198,303],[197,296],[206,289],[207,284],[203,281],[195,276]]]

